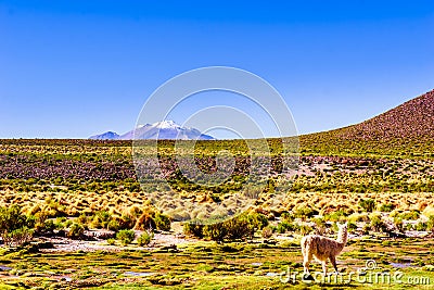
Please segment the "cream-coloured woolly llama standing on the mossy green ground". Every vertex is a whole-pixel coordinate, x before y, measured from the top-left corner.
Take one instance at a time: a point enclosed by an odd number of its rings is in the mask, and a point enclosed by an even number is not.
[[[339,255],[346,244],[348,237],[347,223],[339,224],[337,239],[333,240],[318,235],[309,235],[302,239],[302,253],[304,273],[309,275],[309,263],[312,259],[317,260],[322,265],[322,273],[327,276],[327,260],[332,263],[336,274],[339,273],[336,266],[336,255]]]

